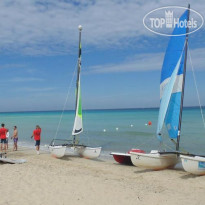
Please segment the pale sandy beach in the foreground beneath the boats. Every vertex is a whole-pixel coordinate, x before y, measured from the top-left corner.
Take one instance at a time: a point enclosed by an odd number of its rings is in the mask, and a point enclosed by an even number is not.
[[[114,160],[55,159],[20,148],[0,164],[0,204],[196,204],[205,201],[205,176],[183,170],[149,171]]]

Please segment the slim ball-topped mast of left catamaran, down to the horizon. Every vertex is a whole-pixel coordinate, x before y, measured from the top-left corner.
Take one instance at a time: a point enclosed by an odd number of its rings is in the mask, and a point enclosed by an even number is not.
[[[77,80],[76,80],[76,102],[75,102],[75,110],[77,109],[77,103],[78,103],[78,87],[79,87],[79,79],[80,79],[80,70],[81,70],[81,31],[82,26],[78,26],[79,30],[79,47],[78,47],[78,71],[77,71]]]

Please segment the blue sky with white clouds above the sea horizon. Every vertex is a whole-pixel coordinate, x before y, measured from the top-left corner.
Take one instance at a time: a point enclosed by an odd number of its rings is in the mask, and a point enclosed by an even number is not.
[[[82,30],[83,109],[159,106],[169,37],[147,30],[144,16],[184,6],[205,18],[204,0],[0,1],[0,112],[74,109],[78,25]],[[205,27],[189,35],[189,52],[205,105]],[[199,105],[187,60],[185,106]]]

